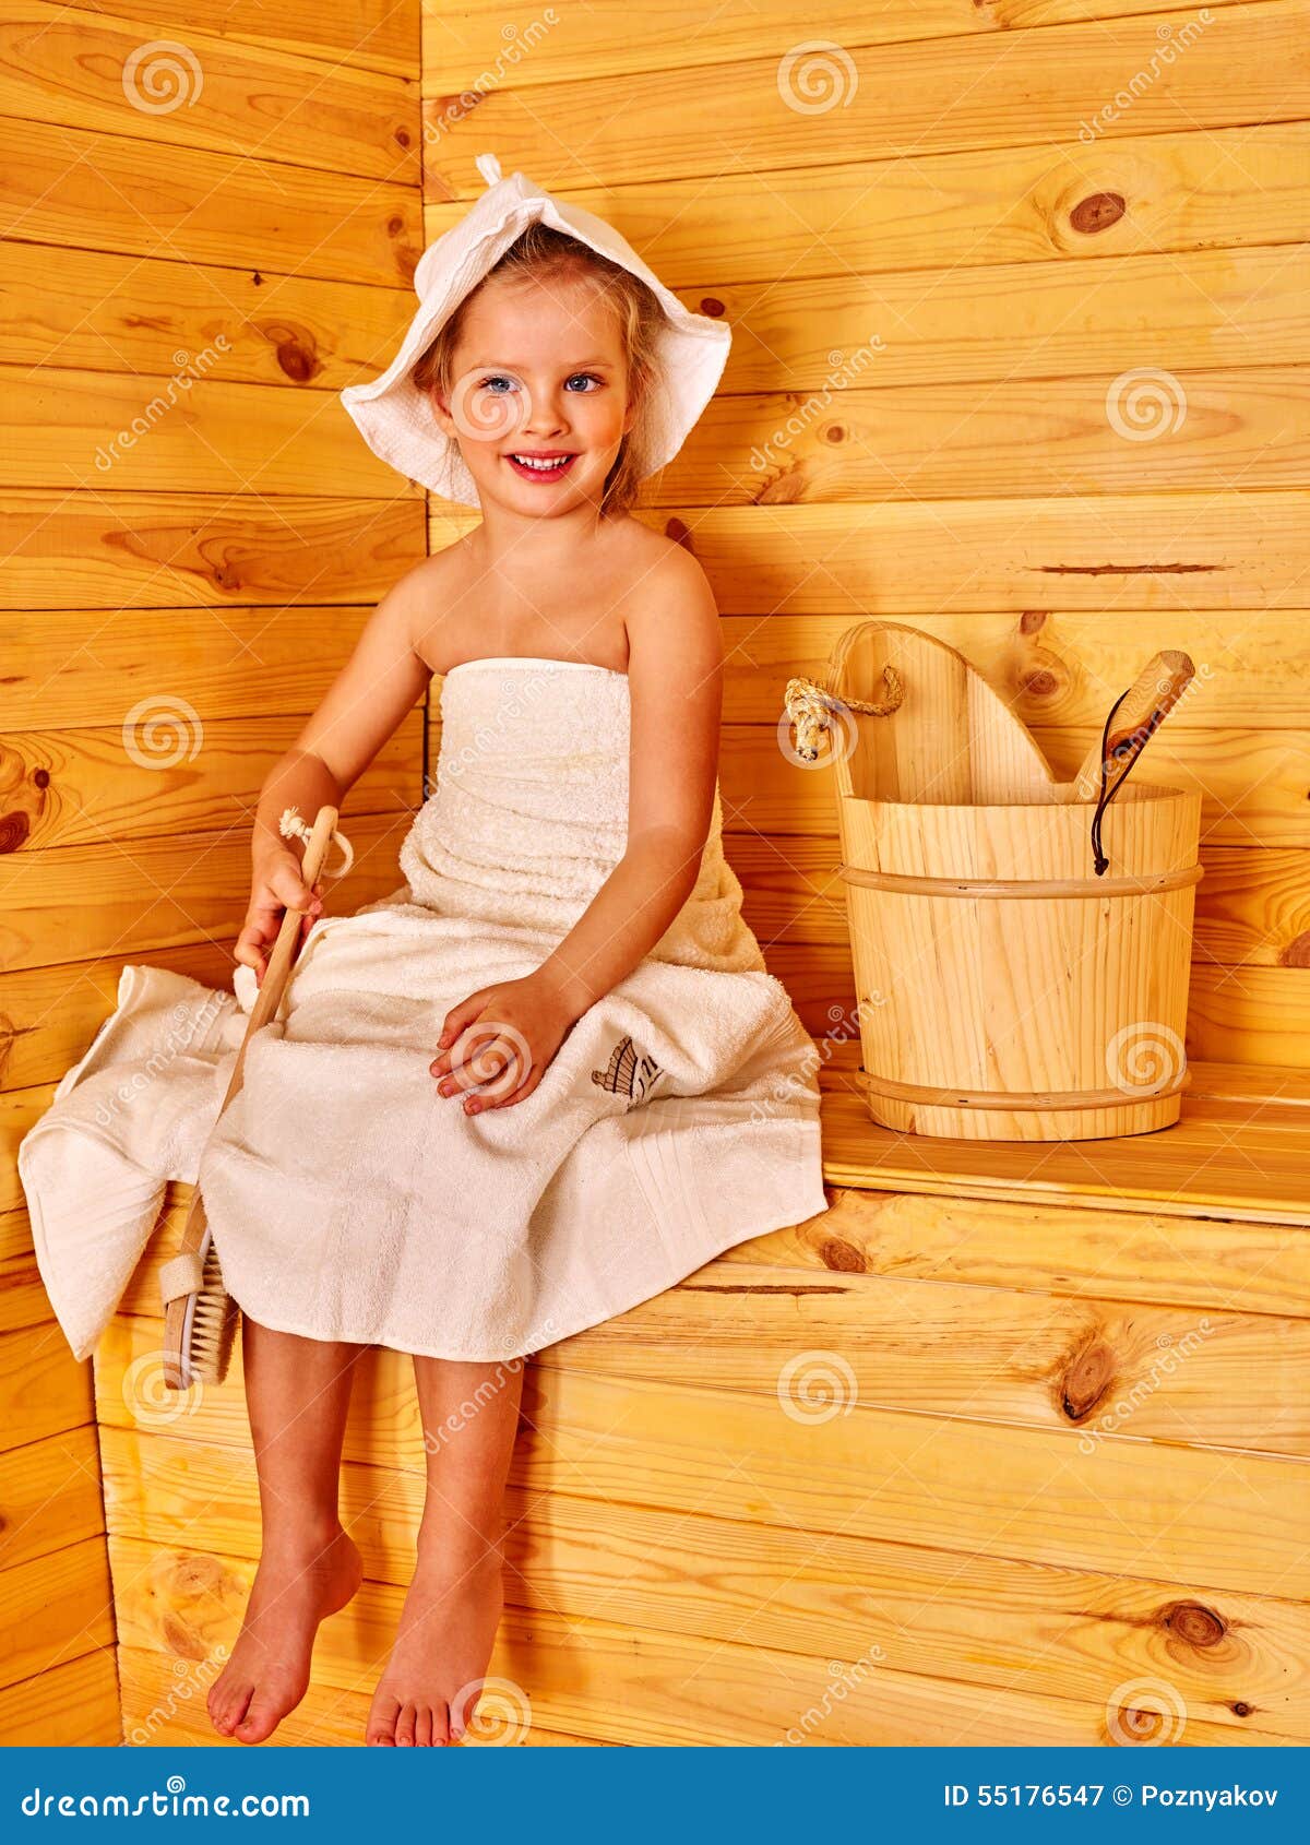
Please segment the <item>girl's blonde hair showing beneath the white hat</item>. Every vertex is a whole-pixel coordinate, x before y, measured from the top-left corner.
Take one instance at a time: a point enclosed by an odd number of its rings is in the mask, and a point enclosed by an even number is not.
[[[565,231],[555,231],[554,225],[544,225],[539,220],[528,225],[504,256],[487,269],[478,288],[463,297],[432,345],[415,362],[411,376],[415,386],[424,393],[437,389],[441,395],[447,395],[450,391],[454,384],[454,351],[459,343],[465,312],[469,303],[478,295],[478,290],[485,288],[493,277],[511,282],[541,282],[554,275],[568,277],[578,273],[594,277],[601,284],[601,295],[618,315],[618,336],[627,358],[627,389],[637,400],[637,419],[631,430],[624,432],[601,493],[601,517],[616,518],[637,504],[642,478],[648,472],[646,423],[651,397],[649,387],[659,363],[659,334],[666,325],[664,310],[655,292],[640,277],[633,275],[631,269],[624,269],[622,264],[611,262],[609,256],[601,256],[578,238],[568,236]]]

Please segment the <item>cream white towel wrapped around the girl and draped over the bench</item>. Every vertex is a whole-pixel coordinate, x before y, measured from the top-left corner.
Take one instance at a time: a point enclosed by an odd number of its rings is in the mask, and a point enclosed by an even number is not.
[[[127,967],[24,1138],[37,1258],[77,1356],[168,1179],[199,1179],[253,1319],[463,1360],[539,1351],[827,1208],[819,1053],[742,919],[718,788],[696,889],[533,1094],[476,1116],[437,1094],[445,1013],[539,967],[624,852],[629,686],[583,662],[470,661],[441,714],[406,886],[312,928],[218,1124],[253,972],[234,998]]]

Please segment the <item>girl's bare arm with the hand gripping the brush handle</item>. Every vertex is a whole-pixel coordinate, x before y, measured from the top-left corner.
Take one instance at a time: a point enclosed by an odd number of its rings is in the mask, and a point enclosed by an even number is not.
[[[280,815],[290,806],[308,819],[321,806],[339,808],[432,677],[413,648],[430,565],[424,559],[387,590],[321,705],[264,779],[251,834],[251,902],[232,948],[258,980],[286,910],[308,910],[306,930],[323,910],[319,886],[312,893],[301,878],[301,849],[279,832]]]

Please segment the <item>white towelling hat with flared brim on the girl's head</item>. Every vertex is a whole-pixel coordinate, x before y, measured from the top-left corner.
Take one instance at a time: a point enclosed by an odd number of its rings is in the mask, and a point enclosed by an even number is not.
[[[459,445],[437,424],[432,404],[413,384],[411,369],[465,295],[528,225],[541,220],[631,269],[664,308],[668,325],[657,347],[657,371],[646,408],[648,445],[642,458],[642,474],[653,474],[673,459],[714,395],[732,343],[731,328],[709,314],[692,314],[685,308],[603,218],[585,212],[579,205],[565,205],[522,173],[502,179],[494,153],[478,155],[478,172],[487,181],[487,190],[459,223],[430,244],[419,258],[413,271],[419,310],[410,321],[400,351],[380,378],[371,384],[351,384],[341,391],[341,402],[356,428],[376,456],[410,480],[447,500],[478,506],[478,491]]]

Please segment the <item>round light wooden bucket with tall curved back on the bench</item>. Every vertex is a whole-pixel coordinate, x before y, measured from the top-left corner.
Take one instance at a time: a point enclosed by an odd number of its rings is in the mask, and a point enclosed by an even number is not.
[[[843,637],[828,683],[871,697],[893,659],[900,705],[847,710],[832,756],[873,1118],[956,1140],[1170,1127],[1186,1083],[1199,795],[1124,782],[1098,876],[1096,803],[1044,779],[1024,727],[952,649],[869,622]]]

